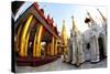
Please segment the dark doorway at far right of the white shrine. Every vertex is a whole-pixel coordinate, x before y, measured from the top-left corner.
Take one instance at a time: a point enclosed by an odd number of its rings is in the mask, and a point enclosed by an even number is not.
[[[106,57],[102,38],[98,38],[100,61]]]

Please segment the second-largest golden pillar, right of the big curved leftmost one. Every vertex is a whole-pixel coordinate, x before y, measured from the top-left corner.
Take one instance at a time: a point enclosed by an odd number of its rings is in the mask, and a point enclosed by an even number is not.
[[[38,29],[36,31],[35,34],[35,39],[34,39],[34,44],[33,44],[33,56],[34,57],[40,57],[41,56],[41,40],[42,40],[42,31],[43,31],[43,25],[42,24],[37,24]]]

